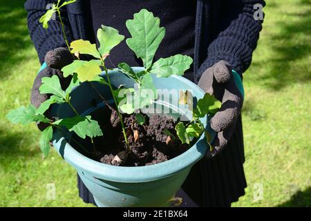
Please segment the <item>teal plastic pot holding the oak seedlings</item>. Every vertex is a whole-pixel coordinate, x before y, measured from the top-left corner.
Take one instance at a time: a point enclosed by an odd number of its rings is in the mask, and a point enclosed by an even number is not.
[[[139,71],[142,68],[133,68],[133,70]],[[116,88],[121,84],[133,86],[133,81],[117,70],[110,71],[109,77],[111,84]],[[191,90],[196,99],[200,99],[204,95],[204,92],[196,84],[184,77],[158,78],[153,76],[153,81],[156,88]],[[111,99],[111,93],[107,86],[95,83],[94,86],[106,99]],[[73,90],[71,101],[80,114],[92,115],[95,118],[95,115],[100,116],[104,106],[102,99],[88,82]],[[176,106],[162,102],[161,97],[157,102],[162,106],[169,106],[170,109],[179,110]],[[66,104],[54,106],[53,113],[59,117],[74,115]],[[207,117],[201,120],[205,127],[208,127]],[[109,136],[109,131],[103,131],[103,133]],[[64,137],[62,131],[55,131],[53,146],[59,155],[77,170],[88,190],[93,193],[98,206],[168,206],[169,200],[185,181],[191,166],[198,162],[207,151],[203,134],[188,151],[167,162],[150,166],[111,166],[87,157],[81,149],[78,149],[78,145],[70,141],[70,135]],[[91,146],[87,142],[83,143],[83,140],[81,142],[82,145],[85,145],[84,148],[91,150]]]

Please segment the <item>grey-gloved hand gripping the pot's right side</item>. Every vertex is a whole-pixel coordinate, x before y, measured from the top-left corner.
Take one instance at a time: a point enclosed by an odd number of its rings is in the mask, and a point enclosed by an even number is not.
[[[207,151],[207,157],[214,157],[227,145],[236,128],[243,106],[243,84],[229,63],[222,60],[205,70],[198,86],[222,102],[220,110],[210,120],[211,128],[217,135],[211,144],[214,148]]]

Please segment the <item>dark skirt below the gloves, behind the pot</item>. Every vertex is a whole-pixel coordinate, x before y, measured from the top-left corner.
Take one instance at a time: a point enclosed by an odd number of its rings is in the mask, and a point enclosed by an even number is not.
[[[182,206],[231,206],[232,202],[245,194],[246,188],[243,163],[245,162],[241,117],[236,131],[222,153],[213,159],[202,159],[191,169],[182,190],[176,193],[183,198]],[[79,175],[77,176],[79,197],[93,203]]]

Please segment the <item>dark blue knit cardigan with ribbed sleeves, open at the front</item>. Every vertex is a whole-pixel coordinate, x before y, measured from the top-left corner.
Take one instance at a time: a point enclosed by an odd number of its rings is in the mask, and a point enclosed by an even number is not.
[[[46,52],[66,46],[59,21],[49,22],[47,30],[39,23],[48,3],[55,1],[28,0],[25,3],[30,37],[41,63],[44,62]],[[256,21],[253,17],[256,3],[265,6],[261,0],[198,1],[194,49],[196,81],[204,70],[222,59],[232,64],[238,73],[243,73],[249,67],[262,28],[262,21]],[[95,43],[88,1],[77,0],[68,5],[62,16],[69,41],[88,39]]]

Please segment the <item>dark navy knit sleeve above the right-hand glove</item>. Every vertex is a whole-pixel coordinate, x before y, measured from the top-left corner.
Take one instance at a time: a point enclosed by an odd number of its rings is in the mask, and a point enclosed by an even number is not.
[[[229,10],[226,11],[228,14],[220,15],[220,18],[233,17],[234,19],[229,21],[227,28],[221,30],[216,39],[209,44],[207,59],[198,70],[197,80],[207,68],[220,60],[228,61],[239,74],[247,70],[251,64],[252,52],[256,48],[263,23],[261,20],[254,19],[256,3],[265,6],[265,1],[260,0],[243,0],[241,4],[238,4],[238,1],[231,1]],[[229,15],[230,12],[236,15]]]

